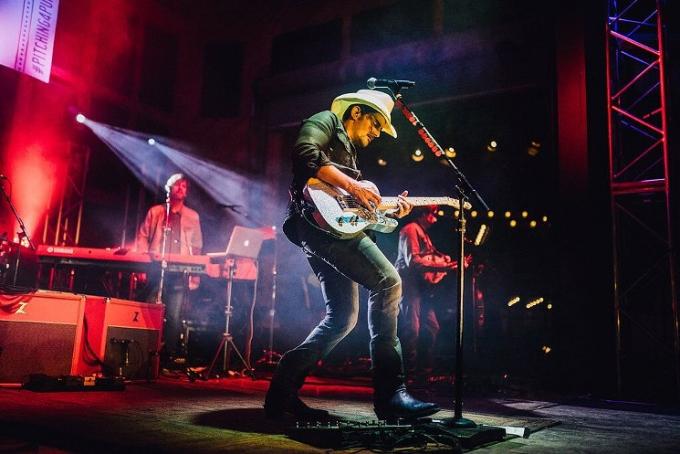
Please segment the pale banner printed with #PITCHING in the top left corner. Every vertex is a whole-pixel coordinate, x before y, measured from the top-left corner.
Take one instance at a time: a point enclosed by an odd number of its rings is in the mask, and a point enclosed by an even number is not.
[[[59,0],[0,0],[0,65],[50,81]]]

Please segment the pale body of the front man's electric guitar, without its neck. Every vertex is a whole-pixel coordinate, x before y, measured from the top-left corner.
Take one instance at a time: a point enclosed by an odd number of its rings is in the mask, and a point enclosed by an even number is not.
[[[303,191],[305,200],[314,205],[312,217],[321,229],[339,238],[352,238],[364,230],[393,232],[399,223],[385,216],[389,210],[371,212],[360,206],[340,188],[310,178]]]

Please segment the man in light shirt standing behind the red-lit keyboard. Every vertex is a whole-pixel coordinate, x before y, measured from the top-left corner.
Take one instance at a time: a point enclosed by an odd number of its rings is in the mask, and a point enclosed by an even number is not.
[[[168,193],[169,220],[165,253],[200,255],[203,235],[198,213],[185,205],[189,182],[181,173],[176,173],[165,184]],[[136,238],[138,252],[160,254],[163,246],[163,229],[166,225],[167,204],[154,205],[146,213]],[[148,276],[147,301],[155,301],[160,274]],[[200,276],[186,273],[166,273],[163,282],[162,300],[165,305],[164,343],[161,350],[161,365],[173,369],[182,367],[186,360],[186,346],[181,343],[182,308],[189,290],[198,288]]]

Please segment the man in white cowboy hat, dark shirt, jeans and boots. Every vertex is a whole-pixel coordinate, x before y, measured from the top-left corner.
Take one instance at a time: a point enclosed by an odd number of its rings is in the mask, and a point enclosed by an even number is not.
[[[317,178],[341,188],[367,209],[381,201],[378,189],[362,181],[357,149],[367,147],[385,132],[397,137],[391,122],[392,98],[381,91],[359,90],[335,98],[331,109],[302,123],[293,149],[291,201],[283,231],[300,246],[319,278],[326,316],[300,345],[283,355],[265,398],[265,414],[280,418],[290,413],[298,419],[323,419],[325,410],[308,407],[298,397],[305,377],[357,323],[359,285],[369,290],[368,323],[373,372],[374,410],[379,419],[414,419],[439,411],[433,403],[413,398],[405,386],[397,316],[401,278],[392,263],[364,232],[339,239],[313,225],[303,212],[304,186]],[[398,199],[394,216],[407,215],[412,205],[406,192]]]

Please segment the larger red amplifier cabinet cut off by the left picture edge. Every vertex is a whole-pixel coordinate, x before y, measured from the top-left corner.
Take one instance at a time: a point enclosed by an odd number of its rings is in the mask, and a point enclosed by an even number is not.
[[[0,294],[0,382],[22,383],[30,374],[74,375],[84,310],[82,295]]]

